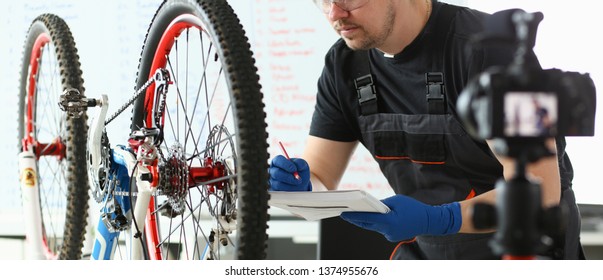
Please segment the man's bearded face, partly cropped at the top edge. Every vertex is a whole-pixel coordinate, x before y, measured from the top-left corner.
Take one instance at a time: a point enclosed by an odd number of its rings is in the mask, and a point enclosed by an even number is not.
[[[351,11],[331,5],[327,19],[351,49],[379,48],[392,33],[395,21],[392,0],[368,0]]]

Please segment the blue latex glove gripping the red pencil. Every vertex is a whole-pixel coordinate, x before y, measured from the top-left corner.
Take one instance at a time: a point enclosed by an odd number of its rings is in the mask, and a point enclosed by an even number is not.
[[[293,175],[295,172],[299,175],[299,180]],[[308,163],[301,158],[291,158],[288,160],[282,155],[272,159],[270,168],[270,190],[273,191],[311,191],[310,167]]]

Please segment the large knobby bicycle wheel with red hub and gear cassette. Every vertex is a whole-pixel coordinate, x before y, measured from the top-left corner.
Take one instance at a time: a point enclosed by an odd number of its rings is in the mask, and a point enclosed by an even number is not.
[[[153,259],[264,259],[268,221],[266,114],[250,46],[224,0],[168,0],[149,27],[132,130],[161,130],[159,186],[145,236]],[[150,218],[150,220],[149,220]],[[221,244],[221,245],[220,245]]]

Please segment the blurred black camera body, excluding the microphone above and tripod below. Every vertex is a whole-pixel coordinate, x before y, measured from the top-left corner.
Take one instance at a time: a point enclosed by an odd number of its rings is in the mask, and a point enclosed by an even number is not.
[[[466,88],[459,110],[482,139],[592,136],[595,92],[588,74],[496,67]]]

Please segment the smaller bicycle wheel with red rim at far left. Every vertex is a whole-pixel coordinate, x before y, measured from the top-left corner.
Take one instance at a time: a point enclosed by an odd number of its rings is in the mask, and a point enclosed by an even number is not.
[[[82,255],[89,197],[86,116],[68,120],[58,103],[66,89],[83,93],[83,84],[69,27],[56,15],[38,16],[24,46],[18,145],[36,156],[42,250],[49,259]]]

